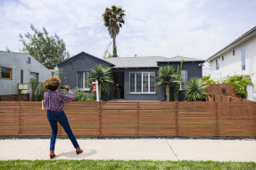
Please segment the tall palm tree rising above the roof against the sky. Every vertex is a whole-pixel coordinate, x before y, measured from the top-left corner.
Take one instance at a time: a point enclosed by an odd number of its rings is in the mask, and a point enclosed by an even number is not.
[[[113,57],[117,57],[116,36],[120,33],[120,28],[125,23],[125,11],[115,5],[111,9],[106,8],[103,13],[104,26],[109,30],[111,38],[113,38]]]

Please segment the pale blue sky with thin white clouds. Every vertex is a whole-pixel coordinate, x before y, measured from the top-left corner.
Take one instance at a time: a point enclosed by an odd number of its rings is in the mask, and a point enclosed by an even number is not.
[[[256,26],[256,0],[0,0],[0,51],[20,52],[19,34],[32,33],[33,24],[60,36],[70,56],[103,58],[112,40],[102,14],[111,5],[126,13],[120,57],[206,60]]]

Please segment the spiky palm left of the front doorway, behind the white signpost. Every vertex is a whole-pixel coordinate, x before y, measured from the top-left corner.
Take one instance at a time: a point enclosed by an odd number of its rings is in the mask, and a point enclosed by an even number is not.
[[[99,85],[99,99],[101,100],[101,93],[110,93],[111,86],[113,83],[111,78],[111,68],[103,65],[96,65],[95,68],[90,69],[88,82],[92,83],[98,80]]]

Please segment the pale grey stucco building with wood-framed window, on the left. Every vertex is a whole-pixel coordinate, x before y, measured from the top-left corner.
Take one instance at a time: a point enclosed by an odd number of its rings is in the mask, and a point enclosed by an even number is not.
[[[51,71],[28,53],[12,53],[0,51],[0,95],[17,94],[18,85],[23,87],[22,93],[28,93],[29,79],[45,82],[51,77]]]

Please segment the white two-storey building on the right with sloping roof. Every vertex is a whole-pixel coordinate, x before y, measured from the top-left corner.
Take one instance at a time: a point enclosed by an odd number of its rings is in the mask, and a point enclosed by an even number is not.
[[[256,27],[207,59],[211,67],[211,79],[221,80],[227,76],[251,75],[256,101]]]

